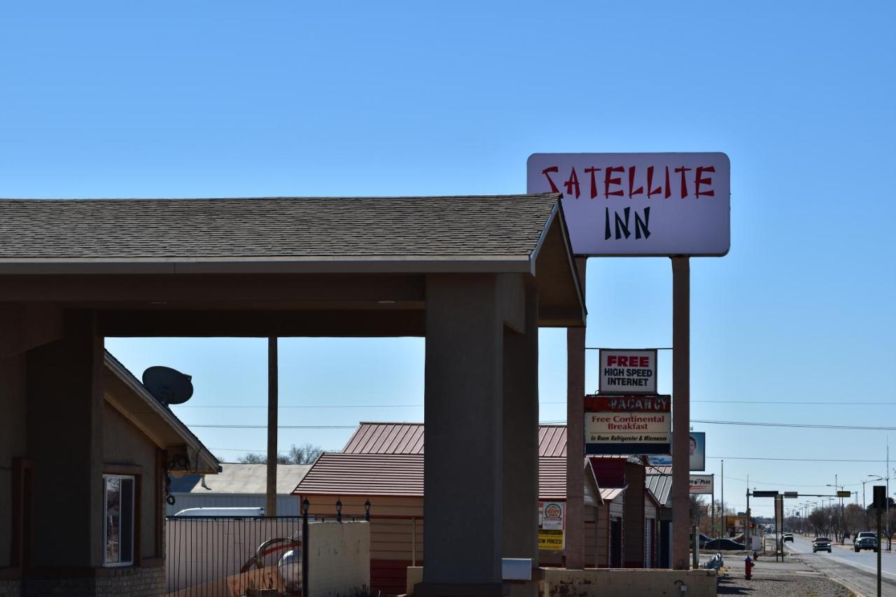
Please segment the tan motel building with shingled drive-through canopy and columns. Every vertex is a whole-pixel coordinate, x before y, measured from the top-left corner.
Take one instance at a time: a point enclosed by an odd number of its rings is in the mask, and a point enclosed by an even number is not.
[[[416,336],[416,594],[502,595],[538,564],[538,329],[585,318],[558,194],[0,199],[0,594],[162,594],[163,472],[218,470],[104,338]]]

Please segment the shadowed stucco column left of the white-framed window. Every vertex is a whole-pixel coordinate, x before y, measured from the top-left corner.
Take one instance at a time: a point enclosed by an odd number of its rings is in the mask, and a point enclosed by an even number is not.
[[[27,356],[34,461],[32,565],[102,565],[103,339],[92,311],[66,311],[64,335]],[[149,530],[147,530],[149,531]]]

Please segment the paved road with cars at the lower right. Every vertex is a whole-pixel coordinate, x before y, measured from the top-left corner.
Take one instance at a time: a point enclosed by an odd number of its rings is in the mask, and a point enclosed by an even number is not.
[[[847,584],[850,589],[864,595],[877,594],[877,554],[874,551],[852,549],[847,541],[843,549],[834,545],[831,553],[819,551],[812,553],[812,538],[795,534],[793,542],[784,544],[788,554],[797,554],[810,567]],[[884,547],[885,547],[884,543]],[[896,597],[896,551],[883,551],[881,554],[882,591],[883,595]]]

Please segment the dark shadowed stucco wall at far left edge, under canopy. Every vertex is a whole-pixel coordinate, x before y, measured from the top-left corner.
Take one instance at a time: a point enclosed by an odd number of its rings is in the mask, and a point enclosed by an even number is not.
[[[0,567],[10,565],[13,458],[25,456],[25,358],[0,359]]]

